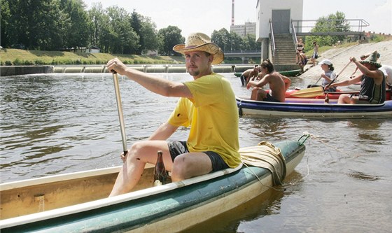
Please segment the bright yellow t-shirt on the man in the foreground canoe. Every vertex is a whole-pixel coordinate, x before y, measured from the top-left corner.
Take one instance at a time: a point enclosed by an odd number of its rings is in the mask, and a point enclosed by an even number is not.
[[[238,108],[230,82],[216,73],[184,83],[193,99],[180,98],[169,117],[174,126],[189,127],[190,152],[211,150],[229,167],[237,167],[239,157]]]

